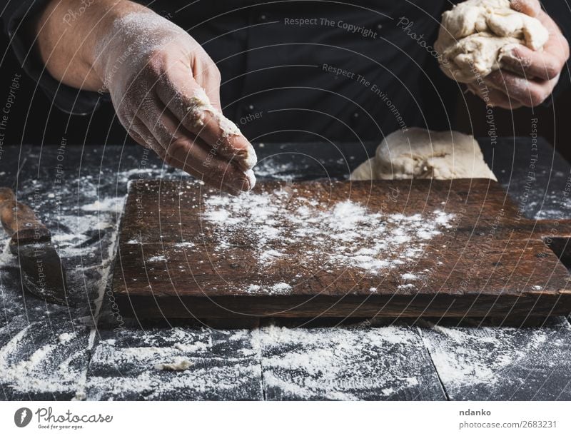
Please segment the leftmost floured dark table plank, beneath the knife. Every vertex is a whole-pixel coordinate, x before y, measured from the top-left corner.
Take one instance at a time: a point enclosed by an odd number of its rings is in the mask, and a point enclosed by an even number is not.
[[[9,174],[6,183],[51,230],[67,270],[71,302],[70,307],[48,304],[27,293],[17,259],[7,248],[0,254],[0,386],[6,400],[84,397],[121,210],[115,206],[123,202],[111,182],[116,157],[105,158],[102,151],[14,146],[0,161],[0,175]],[[81,158],[91,162],[91,169],[83,168],[91,174],[81,175]],[[93,177],[98,164],[109,184],[98,186]],[[7,238],[1,232],[0,241],[4,247]]]

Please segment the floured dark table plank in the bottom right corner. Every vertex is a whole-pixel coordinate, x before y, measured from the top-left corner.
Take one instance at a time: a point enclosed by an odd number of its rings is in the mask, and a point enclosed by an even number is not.
[[[423,322],[418,329],[450,400],[571,399],[565,318]]]

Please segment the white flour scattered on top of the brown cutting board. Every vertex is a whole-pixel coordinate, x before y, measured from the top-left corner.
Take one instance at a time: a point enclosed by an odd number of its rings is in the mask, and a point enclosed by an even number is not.
[[[373,212],[353,201],[329,205],[296,196],[295,191],[206,196],[203,220],[215,238],[213,250],[239,258],[234,247],[247,243],[261,274],[268,268],[299,264],[312,272],[354,268],[378,275],[415,263],[428,240],[450,228],[453,220],[443,211],[423,216]],[[402,278],[418,276],[410,273]],[[295,286],[261,284],[253,283],[248,292],[287,293]]]

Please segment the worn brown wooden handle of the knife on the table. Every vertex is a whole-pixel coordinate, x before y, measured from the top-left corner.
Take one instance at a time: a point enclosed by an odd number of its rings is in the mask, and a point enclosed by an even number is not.
[[[34,211],[16,201],[14,191],[0,188],[0,222],[12,243],[34,243],[51,240],[51,233]]]

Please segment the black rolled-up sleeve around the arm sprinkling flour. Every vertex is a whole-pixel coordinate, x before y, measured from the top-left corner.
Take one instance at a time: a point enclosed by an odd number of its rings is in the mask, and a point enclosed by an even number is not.
[[[41,12],[49,0],[0,0],[4,33],[16,54],[22,69],[38,82],[54,105],[73,115],[85,115],[98,108],[101,100],[109,100],[106,93],[81,91],[60,83],[46,70],[34,44],[34,35],[29,29],[30,19]],[[66,26],[62,22],[62,26]]]

